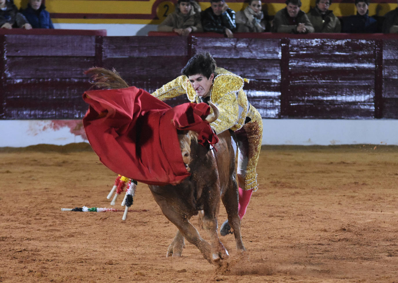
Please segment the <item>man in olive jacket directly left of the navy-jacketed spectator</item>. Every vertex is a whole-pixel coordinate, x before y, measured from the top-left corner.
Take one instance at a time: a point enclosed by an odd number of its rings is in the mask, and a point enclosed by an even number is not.
[[[308,19],[314,26],[315,32],[332,32],[339,33],[341,31],[341,23],[329,6],[332,0],[316,0],[314,8],[307,13]]]

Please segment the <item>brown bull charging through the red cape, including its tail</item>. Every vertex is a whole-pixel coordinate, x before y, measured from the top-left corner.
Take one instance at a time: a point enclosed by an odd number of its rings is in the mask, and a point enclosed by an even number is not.
[[[117,72],[103,68],[91,68],[86,73],[94,74],[94,84],[106,88],[126,88]],[[217,108],[213,107],[213,117],[217,119]],[[197,248],[203,257],[211,263],[220,264],[228,256],[228,251],[218,236],[217,216],[220,200],[228,221],[234,231],[236,249],[244,252],[238,216],[238,185],[236,182],[235,152],[230,133],[224,131],[218,135],[219,142],[206,148],[197,142],[192,131],[179,133],[181,155],[187,171],[191,174],[178,184],[149,185],[149,189],[162,213],[178,228],[177,234],[168,246],[166,256],[181,256],[184,239]],[[209,242],[204,240],[195,226],[189,221],[203,211],[203,228],[209,233]]]

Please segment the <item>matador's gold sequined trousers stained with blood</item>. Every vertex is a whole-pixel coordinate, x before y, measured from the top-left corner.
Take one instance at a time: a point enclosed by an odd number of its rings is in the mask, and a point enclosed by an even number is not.
[[[244,176],[244,184],[239,186],[244,190],[257,191],[257,162],[263,137],[263,120],[260,113],[250,105],[247,117],[251,120],[242,128],[234,131],[232,137],[238,149],[238,175]]]

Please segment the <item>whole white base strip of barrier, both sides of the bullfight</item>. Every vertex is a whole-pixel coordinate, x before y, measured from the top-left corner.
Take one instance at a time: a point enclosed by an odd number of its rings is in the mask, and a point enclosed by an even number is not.
[[[0,147],[87,142],[81,120],[2,120]],[[265,145],[398,145],[398,120],[263,119]]]

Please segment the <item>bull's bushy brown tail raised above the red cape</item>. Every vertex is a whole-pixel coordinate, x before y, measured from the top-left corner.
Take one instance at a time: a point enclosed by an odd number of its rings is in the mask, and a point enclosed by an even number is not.
[[[109,89],[109,88],[128,88],[129,85],[125,80],[121,78],[118,72],[114,68],[112,70],[107,70],[100,67],[92,67],[86,71],[84,74],[92,74],[92,87],[99,89]]]

